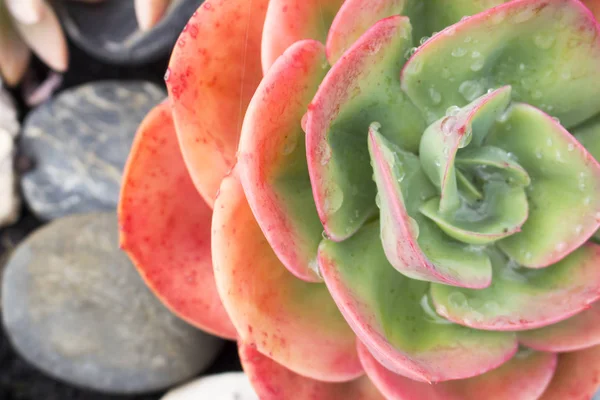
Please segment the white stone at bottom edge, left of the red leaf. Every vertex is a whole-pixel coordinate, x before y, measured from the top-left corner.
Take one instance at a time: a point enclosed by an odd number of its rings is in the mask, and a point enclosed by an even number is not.
[[[243,372],[210,375],[171,390],[161,400],[258,400]]]

